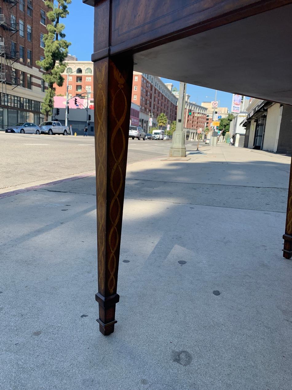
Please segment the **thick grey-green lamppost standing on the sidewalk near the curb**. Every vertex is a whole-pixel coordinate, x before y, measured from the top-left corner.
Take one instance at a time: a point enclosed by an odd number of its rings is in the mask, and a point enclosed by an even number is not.
[[[185,134],[183,132],[184,113],[186,105],[186,83],[179,83],[178,111],[176,117],[176,131],[172,135],[172,144],[169,149],[170,157],[185,157]]]

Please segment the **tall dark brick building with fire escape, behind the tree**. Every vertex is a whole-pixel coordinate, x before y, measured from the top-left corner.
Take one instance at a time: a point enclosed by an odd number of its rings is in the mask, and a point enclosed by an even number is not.
[[[42,0],[0,0],[0,129],[16,122],[39,124],[48,8]]]

